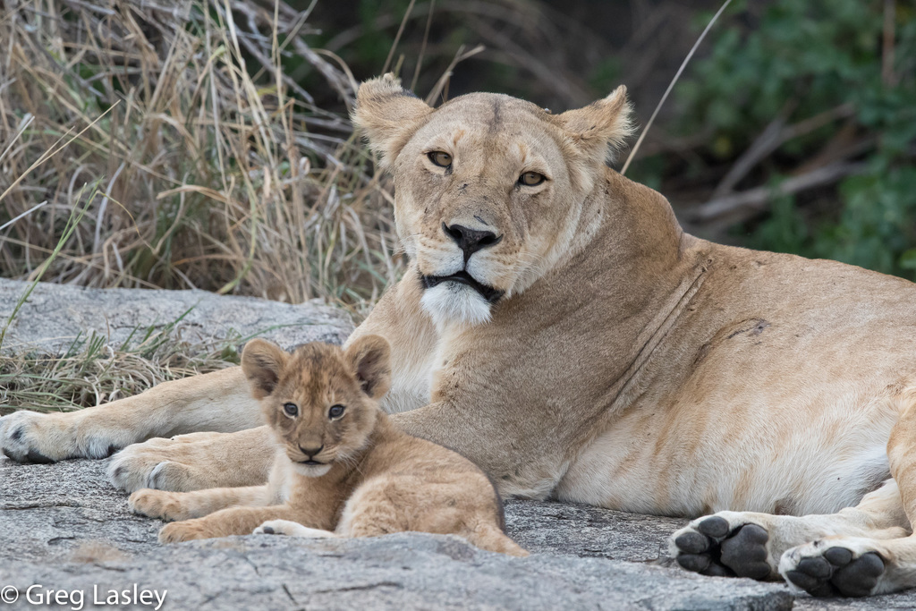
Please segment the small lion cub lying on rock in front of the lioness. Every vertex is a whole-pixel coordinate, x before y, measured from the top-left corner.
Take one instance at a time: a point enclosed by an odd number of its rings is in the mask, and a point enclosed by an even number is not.
[[[390,385],[389,355],[377,335],[345,352],[306,344],[289,354],[249,342],[242,369],[279,442],[267,486],[138,490],[130,507],[184,520],[160,531],[163,542],[253,531],[372,537],[420,530],[527,556],[504,534],[502,502],[486,475],[461,455],[399,431],[378,407]]]

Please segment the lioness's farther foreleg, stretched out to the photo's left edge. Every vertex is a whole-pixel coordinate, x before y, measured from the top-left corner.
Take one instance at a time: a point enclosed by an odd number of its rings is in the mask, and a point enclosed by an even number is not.
[[[0,419],[0,450],[49,463],[104,458],[131,443],[193,431],[242,431],[261,424],[241,367],[164,382],[136,397],[67,413],[16,411]]]

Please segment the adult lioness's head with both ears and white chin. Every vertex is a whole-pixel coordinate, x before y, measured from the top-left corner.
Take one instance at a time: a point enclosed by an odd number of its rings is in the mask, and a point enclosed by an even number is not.
[[[432,109],[390,76],[365,82],[354,120],[394,174],[398,235],[440,325],[476,324],[569,252],[610,144],[627,134],[621,89],[551,115],[473,93]]]

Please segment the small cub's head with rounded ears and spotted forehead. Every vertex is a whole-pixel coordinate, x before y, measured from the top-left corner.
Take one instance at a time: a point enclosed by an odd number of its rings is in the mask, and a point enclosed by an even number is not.
[[[346,351],[306,344],[293,354],[264,340],[245,344],[242,369],[265,419],[301,475],[319,477],[354,458],[376,425],[390,384],[389,347],[377,335]]]

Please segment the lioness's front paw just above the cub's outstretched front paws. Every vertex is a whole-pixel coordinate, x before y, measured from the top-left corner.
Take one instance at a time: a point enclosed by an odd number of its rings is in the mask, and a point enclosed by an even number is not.
[[[188,450],[188,444],[180,437],[130,445],[114,454],[108,465],[108,478],[114,487],[125,492],[141,488],[189,492],[213,487],[213,478],[206,469],[191,463],[195,459],[205,462],[206,457],[191,455]]]

